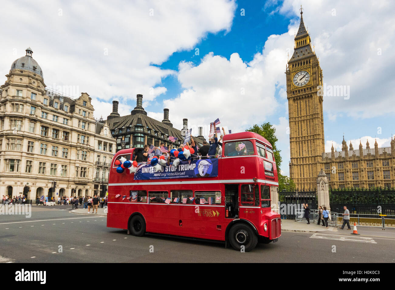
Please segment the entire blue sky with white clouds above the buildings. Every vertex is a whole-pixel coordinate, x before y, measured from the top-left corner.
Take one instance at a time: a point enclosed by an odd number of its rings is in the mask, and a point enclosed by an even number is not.
[[[285,70],[300,6],[323,71],[325,151],[333,144],[389,146],[394,129],[395,2],[2,1],[0,82],[31,47],[44,82],[74,97],[87,92],[94,116],[112,101],[121,116],[143,95],[148,116],[192,134],[219,118],[232,133],[276,127],[289,175]],[[17,15],[17,21],[16,21]],[[336,96],[330,88],[342,86]]]

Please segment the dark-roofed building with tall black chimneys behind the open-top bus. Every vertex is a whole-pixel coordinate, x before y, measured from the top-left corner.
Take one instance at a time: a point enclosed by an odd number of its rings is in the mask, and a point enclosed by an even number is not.
[[[188,130],[188,119],[183,119],[181,130],[173,127],[169,120],[169,109],[164,109],[162,122],[147,116],[143,108],[143,95],[137,95],[137,105],[130,115],[120,116],[118,113],[118,101],[113,101],[113,112],[107,117],[111,134],[117,140],[117,151],[135,147],[136,152],[143,150],[145,144],[159,147],[160,143],[170,146],[170,149],[179,148],[184,141],[185,132]],[[169,136],[177,137],[172,143]],[[199,136],[193,137],[200,147],[204,137],[202,127],[199,127]]]

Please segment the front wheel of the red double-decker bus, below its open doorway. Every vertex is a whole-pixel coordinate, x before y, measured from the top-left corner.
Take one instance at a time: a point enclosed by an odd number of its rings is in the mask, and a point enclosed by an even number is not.
[[[244,246],[244,251],[249,252],[256,247],[258,237],[250,226],[238,223],[229,230],[229,241],[236,251],[241,251]]]

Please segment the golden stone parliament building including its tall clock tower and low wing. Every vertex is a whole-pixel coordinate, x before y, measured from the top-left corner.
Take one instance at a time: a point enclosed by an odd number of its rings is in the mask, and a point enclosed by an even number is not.
[[[292,57],[286,69],[287,99],[290,124],[290,178],[297,189],[316,187],[321,169],[327,174],[331,188],[371,188],[395,186],[395,138],[391,146],[371,148],[359,143],[354,150],[343,137],[342,151],[332,146],[325,152],[324,117],[320,94],[323,85],[320,62],[312,50],[311,39],[303,22],[295,35]]]

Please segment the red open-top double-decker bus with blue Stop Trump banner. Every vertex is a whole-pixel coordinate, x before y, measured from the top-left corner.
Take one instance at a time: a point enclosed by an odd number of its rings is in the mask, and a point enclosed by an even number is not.
[[[260,135],[225,135],[219,158],[118,173],[115,161],[130,160],[134,149],[120,150],[111,161],[107,227],[135,236],[225,241],[238,251],[281,236],[280,215],[271,211],[271,192],[278,187],[273,148]]]

